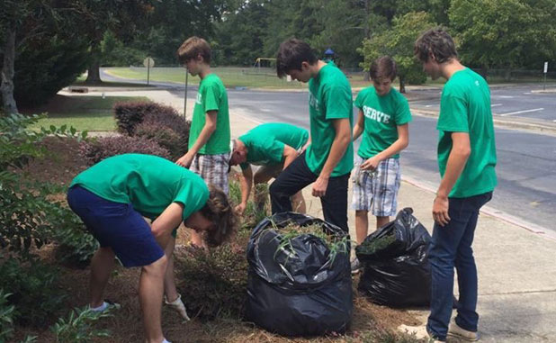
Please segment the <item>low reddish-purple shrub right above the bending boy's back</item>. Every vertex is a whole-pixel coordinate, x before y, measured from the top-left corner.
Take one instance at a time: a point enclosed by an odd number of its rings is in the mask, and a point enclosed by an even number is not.
[[[153,140],[139,137],[104,137],[98,140],[84,142],[79,147],[79,154],[89,166],[115,155],[140,153],[170,158],[168,150],[160,147]]]

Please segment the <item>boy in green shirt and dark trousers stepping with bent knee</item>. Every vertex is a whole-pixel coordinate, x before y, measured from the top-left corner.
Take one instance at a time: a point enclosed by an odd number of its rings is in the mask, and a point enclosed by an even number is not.
[[[348,232],[347,182],[354,167],[351,86],[333,63],[317,59],[309,44],[296,39],[280,45],[276,72],[309,83],[310,143],[270,186],[272,211],[291,211],[291,195],[313,183],[325,221]]]

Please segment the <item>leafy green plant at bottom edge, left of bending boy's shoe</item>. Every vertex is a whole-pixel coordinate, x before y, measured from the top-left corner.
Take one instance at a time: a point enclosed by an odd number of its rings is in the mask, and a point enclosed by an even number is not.
[[[58,343],[92,342],[94,338],[110,337],[109,330],[94,329],[92,325],[94,321],[110,316],[109,311],[92,311],[88,306],[76,308],[69,312],[67,319],[59,318],[50,330],[56,335]]]

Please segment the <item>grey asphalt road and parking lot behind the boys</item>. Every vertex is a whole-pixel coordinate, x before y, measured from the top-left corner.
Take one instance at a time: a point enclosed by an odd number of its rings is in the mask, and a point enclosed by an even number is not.
[[[104,77],[108,79],[109,77]],[[112,78],[113,79],[113,78]],[[121,79],[117,79],[122,81]],[[172,92],[183,96],[183,86]],[[491,104],[497,117],[518,116],[525,120],[556,121],[556,94],[537,93],[542,86],[492,87]],[[412,109],[437,111],[440,90],[414,90],[421,93]],[[258,122],[290,122],[309,128],[307,92],[263,92],[229,89],[230,113],[241,113]],[[194,101],[196,89],[190,88],[188,101]],[[436,119],[414,116],[409,125],[410,143],[401,154],[402,177],[409,176],[435,188],[440,176],[436,164]],[[496,128],[498,187],[489,203],[491,208],[507,212],[547,230],[556,231],[556,137],[534,131]],[[355,143],[356,147],[359,141]]]

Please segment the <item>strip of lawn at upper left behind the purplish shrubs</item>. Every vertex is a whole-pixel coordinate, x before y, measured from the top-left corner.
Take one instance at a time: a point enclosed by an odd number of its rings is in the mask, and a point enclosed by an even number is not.
[[[148,101],[144,96],[100,96],[56,95],[49,104],[36,108],[23,108],[22,113],[47,113],[48,118],[41,119],[31,129],[38,130],[41,126],[54,125],[60,127],[64,124],[73,126],[77,131],[114,131],[116,121],[113,118],[112,106],[121,101]]]

